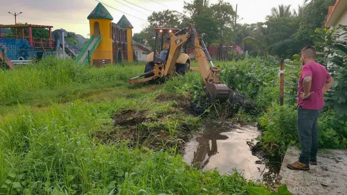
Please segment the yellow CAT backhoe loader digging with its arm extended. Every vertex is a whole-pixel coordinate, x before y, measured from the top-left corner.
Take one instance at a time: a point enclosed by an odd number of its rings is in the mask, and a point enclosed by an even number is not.
[[[172,74],[185,74],[190,69],[189,56],[182,51],[189,42],[192,43],[195,51],[195,60],[198,62],[201,76],[206,83],[212,100],[226,100],[229,97],[229,88],[227,85],[219,81],[219,68],[213,65],[211,56],[206,49],[203,36],[199,35],[194,24],[183,29],[174,28],[155,28],[155,52],[151,52],[146,60],[145,73],[137,77],[129,79],[129,83],[143,83],[156,78],[163,78]],[[158,56],[156,48],[158,48],[158,38],[161,34],[161,52]],[[166,41],[170,44],[167,48],[163,48],[164,37],[169,35]],[[167,45],[168,45],[167,43]],[[138,79],[144,77],[143,79]]]

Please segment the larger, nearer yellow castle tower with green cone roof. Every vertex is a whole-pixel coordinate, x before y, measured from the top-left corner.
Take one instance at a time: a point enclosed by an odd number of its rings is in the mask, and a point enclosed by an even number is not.
[[[91,64],[100,67],[112,63],[113,17],[101,3],[98,3],[87,19],[90,25],[91,45],[96,46],[96,48],[90,48],[94,50],[91,56]],[[97,44],[98,42],[99,44]]]

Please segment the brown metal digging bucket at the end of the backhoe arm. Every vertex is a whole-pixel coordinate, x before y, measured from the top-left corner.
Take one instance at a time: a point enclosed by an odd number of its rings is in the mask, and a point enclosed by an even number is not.
[[[206,90],[210,94],[211,100],[225,102],[229,98],[229,88],[227,85],[207,82]]]

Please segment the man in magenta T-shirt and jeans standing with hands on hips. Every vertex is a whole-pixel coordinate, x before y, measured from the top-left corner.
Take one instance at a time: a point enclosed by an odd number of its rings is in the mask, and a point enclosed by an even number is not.
[[[323,94],[332,86],[334,79],[322,65],[315,62],[315,58],[316,49],[313,46],[301,50],[303,67],[297,91],[297,129],[301,154],[298,161],[287,164],[289,169],[310,170],[309,164],[317,164],[317,120],[324,107]]]

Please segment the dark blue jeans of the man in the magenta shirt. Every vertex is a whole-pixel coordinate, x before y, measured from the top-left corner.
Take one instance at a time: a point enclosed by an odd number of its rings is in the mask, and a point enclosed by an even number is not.
[[[298,108],[297,129],[301,144],[301,154],[299,161],[308,164],[310,161],[317,161],[318,152],[318,117],[321,110],[308,110]]]

